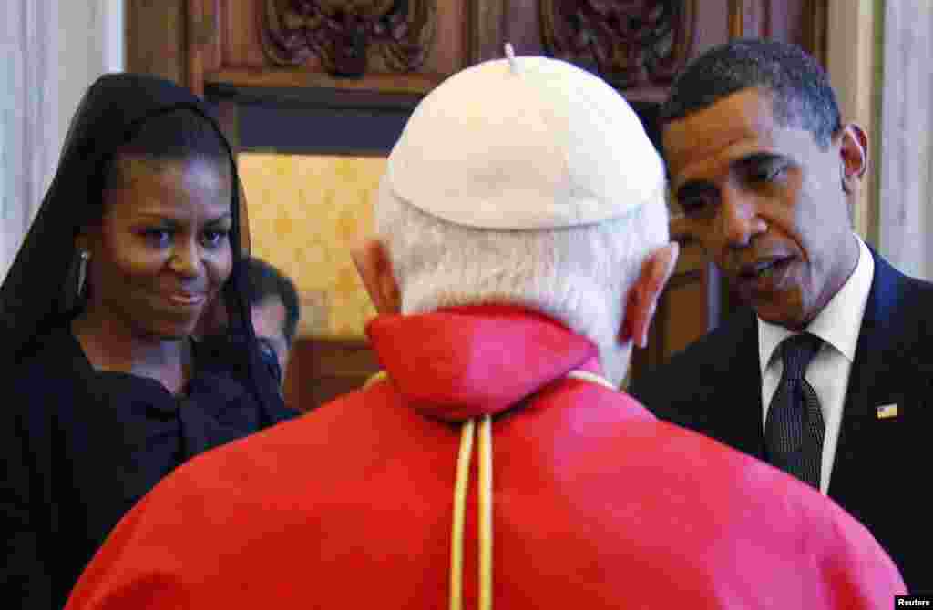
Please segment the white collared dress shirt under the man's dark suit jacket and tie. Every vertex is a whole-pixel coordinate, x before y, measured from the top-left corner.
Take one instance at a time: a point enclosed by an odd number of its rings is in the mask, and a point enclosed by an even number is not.
[[[823,340],[823,345],[807,367],[804,378],[813,386],[823,409],[826,435],[823,437],[823,460],[820,467],[819,489],[829,490],[829,476],[836,457],[836,444],[842,424],[842,405],[849,385],[849,372],[856,357],[858,331],[862,326],[865,303],[869,299],[874,260],[867,245],[853,233],[858,242],[858,263],[849,279],[842,284],[836,296],[829,300],[822,312],[806,328]],[[781,381],[784,363],[775,352],[790,335],[784,326],[777,326],[759,318],[759,358],[761,363],[761,429],[768,421],[768,408]]]

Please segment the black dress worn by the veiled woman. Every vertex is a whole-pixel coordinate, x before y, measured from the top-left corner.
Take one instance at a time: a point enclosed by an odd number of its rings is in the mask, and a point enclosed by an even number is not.
[[[42,341],[0,409],[7,472],[0,606],[61,608],[118,520],[188,458],[288,419],[230,375],[223,352],[195,344],[184,395],[91,367],[67,327]],[[179,516],[181,518],[183,516]]]

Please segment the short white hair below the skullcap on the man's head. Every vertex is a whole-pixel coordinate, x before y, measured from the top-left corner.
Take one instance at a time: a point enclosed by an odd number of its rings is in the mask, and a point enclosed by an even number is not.
[[[656,201],[603,223],[550,230],[474,229],[427,215],[380,185],[376,232],[386,244],[402,313],[512,304],[592,340],[609,381],[625,377],[631,342],[617,338],[629,288],[648,254],[668,243],[665,186]]]

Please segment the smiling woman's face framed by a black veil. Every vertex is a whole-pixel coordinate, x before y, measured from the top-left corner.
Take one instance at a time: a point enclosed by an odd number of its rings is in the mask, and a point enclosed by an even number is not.
[[[230,169],[209,159],[119,157],[88,231],[86,314],[132,336],[190,335],[230,277]]]

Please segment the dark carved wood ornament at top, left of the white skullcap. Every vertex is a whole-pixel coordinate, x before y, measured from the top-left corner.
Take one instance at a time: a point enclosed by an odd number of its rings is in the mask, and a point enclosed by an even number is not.
[[[263,49],[283,65],[316,56],[334,76],[362,76],[372,56],[410,72],[431,49],[437,10],[437,0],[265,0]]]

